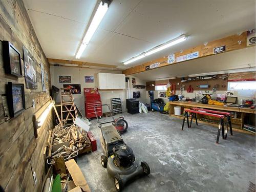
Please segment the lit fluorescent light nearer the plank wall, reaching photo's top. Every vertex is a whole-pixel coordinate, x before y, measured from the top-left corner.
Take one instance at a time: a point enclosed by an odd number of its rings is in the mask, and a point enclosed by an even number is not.
[[[77,59],[81,57],[84,49],[86,49],[87,45],[89,44],[94,32],[98,28],[108,8],[109,8],[109,5],[107,3],[100,2],[100,4],[98,5],[98,8],[93,16],[92,22],[90,23],[90,26],[87,28],[87,31],[84,34],[84,37],[82,39],[81,45],[76,53]]]

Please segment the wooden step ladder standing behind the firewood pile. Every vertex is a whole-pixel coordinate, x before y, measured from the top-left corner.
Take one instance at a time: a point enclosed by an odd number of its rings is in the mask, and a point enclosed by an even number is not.
[[[68,99],[67,99],[68,97]],[[61,126],[70,126],[78,116],[70,88],[60,88]],[[66,117],[65,117],[66,115]]]

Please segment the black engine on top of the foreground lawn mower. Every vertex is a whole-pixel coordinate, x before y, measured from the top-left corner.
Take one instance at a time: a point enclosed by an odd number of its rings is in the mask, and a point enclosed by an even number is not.
[[[132,148],[126,144],[116,145],[113,148],[113,153],[114,164],[118,167],[129,167],[135,161]]]

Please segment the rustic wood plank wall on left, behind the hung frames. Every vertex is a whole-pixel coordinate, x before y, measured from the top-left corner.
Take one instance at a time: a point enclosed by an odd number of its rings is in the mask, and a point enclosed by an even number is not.
[[[0,1],[0,40],[0,184],[6,191],[39,191],[45,175],[43,152],[47,145],[49,130],[52,129],[53,114],[48,116],[38,130],[38,138],[34,137],[32,114],[50,99],[50,68],[22,0]],[[22,55],[25,46],[37,61],[38,89],[25,89],[26,110],[8,121],[5,121],[2,101],[2,96],[6,93],[5,84],[8,81],[25,84],[25,78],[24,71],[22,78],[5,74],[3,40],[12,42]],[[44,65],[45,73],[48,73],[47,92],[42,92],[39,63]],[[35,109],[32,107],[32,99],[35,100]],[[36,184],[33,172],[36,172]]]

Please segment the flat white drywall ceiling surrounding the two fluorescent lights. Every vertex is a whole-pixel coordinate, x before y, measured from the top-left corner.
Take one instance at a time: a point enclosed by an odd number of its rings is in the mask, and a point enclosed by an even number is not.
[[[114,0],[80,59],[75,59],[96,0],[23,0],[48,58],[123,66],[183,33],[188,40],[125,67],[255,28],[255,0]]]

